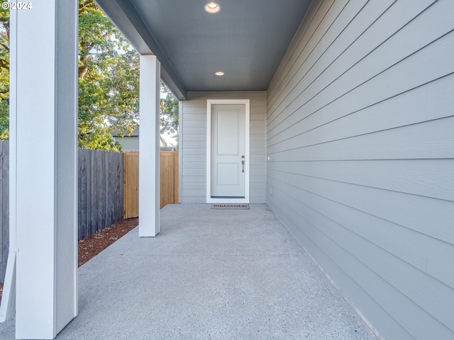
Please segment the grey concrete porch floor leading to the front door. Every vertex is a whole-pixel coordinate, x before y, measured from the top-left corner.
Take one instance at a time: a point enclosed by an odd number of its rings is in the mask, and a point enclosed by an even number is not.
[[[56,339],[377,338],[267,205],[184,204],[79,268],[79,316]]]

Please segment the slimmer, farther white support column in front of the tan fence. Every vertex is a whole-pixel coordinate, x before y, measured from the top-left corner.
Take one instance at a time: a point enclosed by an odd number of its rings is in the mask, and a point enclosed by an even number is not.
[[[159,101],[160,62],[154,55],[140,56],[139,236],[159,232]]]

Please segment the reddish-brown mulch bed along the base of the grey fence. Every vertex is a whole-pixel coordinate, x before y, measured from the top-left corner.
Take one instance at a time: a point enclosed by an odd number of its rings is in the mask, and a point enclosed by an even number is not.
[[[85,262],[92,259],[108,246],[116,242],[120,237],[123,237],[139,224],[138,217],[128,218],[128,220],[121,220],[116,222],[111,227],[92,234],[79,241],[79,267]],[[0,283],[0,301],[3,294],[3,283]]]

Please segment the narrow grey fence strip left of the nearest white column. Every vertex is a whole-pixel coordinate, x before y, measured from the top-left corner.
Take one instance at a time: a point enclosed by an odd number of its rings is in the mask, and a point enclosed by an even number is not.
[[[9,251],[9,140],[0,140],[0,282],[4,282]]]

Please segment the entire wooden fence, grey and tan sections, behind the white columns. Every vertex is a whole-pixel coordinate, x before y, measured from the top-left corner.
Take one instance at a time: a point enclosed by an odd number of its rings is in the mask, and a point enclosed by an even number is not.
[[[138,152],[123,154],[89,149],[79,149],[78,152],[80,240],[122,220],[123,214],[124,218],[138,216],[139,168]],[[160,153],[160,177],[160,208],[178,203],[178,152]],[[0,213],[1,283],[9,251],[8,140],[0,140]]]

